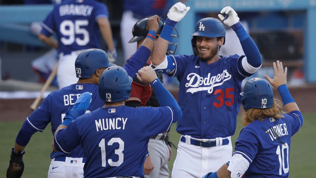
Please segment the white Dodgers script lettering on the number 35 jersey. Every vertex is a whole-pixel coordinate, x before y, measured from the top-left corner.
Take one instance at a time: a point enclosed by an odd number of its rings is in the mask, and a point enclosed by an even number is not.
[[[189,73],[186,77],[189,82],[185,84],[185,87],[192,88],[187,89],[186,92],[191,92],[193,94],[194,92],[207,90],[207,92],[211,94],[214,87],[222,85],[224,81],[229,80],[232,77],[232,75],[227,72],[227,69],[212,77],[210,77],[210,75],[211,74],[209,73],[206,78],[203,78],[197,73]]]

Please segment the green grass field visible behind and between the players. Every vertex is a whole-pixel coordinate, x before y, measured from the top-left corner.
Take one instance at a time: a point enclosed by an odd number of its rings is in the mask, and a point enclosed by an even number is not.
[[[313,177],[316,154],[316,114],[303,113],[304,125],[301,130],[292,137],[290,152],[290,177]],[[5,177],[9,165],[11,148],[14,146],[15,137],[22,126],[23,121],[0,121],[0,177]],[[176,124],[171,129],[171,141],[177,145],[180,135],[175,130]],[[241,130],[240,122],[237,123],[236,134],[232,141],[235,142]],[[234,144],[233,144],[234,145]],[[35,133],[26,147],[24,155],[25,169],[23,178],[44,178],[51,159],[52,133],[50,126],[47,126],[43,133]],[[176,150],[173,149],[172,160],[169,162],[170,173],[173,161],[176,157]]]

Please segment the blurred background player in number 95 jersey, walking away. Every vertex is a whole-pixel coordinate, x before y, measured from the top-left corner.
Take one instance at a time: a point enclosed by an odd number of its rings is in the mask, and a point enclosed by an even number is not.
[[[73,71],[77,55],[84,49],[100,49],[101,32],[109,48],[109,61],[116,58],[113,45],[109,12],[105,4],[92,0],[66,0],[55,5],[41,24],[39,39],[58,49],[59,66],[57,82],[59,88],[77,82]],[[57,41],[52,37],[56,33]]]

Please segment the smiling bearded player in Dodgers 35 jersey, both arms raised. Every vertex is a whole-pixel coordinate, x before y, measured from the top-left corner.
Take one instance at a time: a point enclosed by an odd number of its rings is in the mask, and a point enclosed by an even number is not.
[[[225,28],[215,18],[204,18],[197,22],[191,35],[194,55],[166,56],[168,35],[189,10],[182,3],[169,10],[152,58],[155,71],[179,80],[178,102],[184,114],[177,123],[177,132],[182,136],[173,165],[174,178],[202,177],[231,157],[230,136],[236,129],[241,81],[262,63],[256,44],[231,7],[221,11],[228,18],[219,17],[236,32],[245,55],[220,56]]]

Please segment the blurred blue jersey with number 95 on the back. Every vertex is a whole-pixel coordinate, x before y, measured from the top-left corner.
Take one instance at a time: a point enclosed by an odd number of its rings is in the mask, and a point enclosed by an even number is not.
[[[62,1],[55,5],[42,23],[41,33],[51,36],[56,32],[59,53],[70,54],[76,50],[100,49],[100,30],[97,20],[108,16],[109,12],[103,3],[92,0]]]

